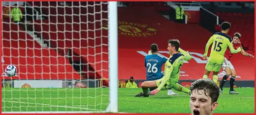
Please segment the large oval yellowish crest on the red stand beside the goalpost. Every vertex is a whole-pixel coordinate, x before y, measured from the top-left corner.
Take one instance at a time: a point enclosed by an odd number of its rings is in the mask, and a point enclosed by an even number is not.
[[[108,29],[108,23],[104,23],[102,28]],[[118,33],[132,37],[146,37],[156,34],[157,30],[146,24],[118,21]]]

